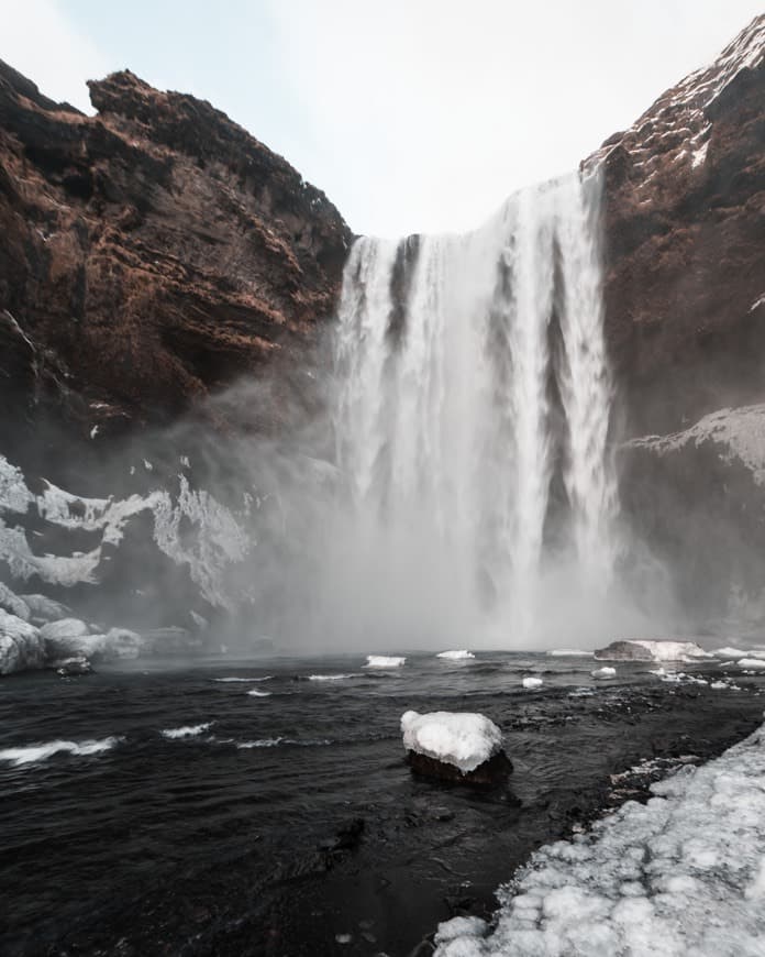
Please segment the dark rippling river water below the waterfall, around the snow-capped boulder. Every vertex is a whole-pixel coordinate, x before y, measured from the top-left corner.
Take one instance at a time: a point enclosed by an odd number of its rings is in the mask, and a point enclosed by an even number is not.
[[[762,721],[756,680],[713,691],[620,666],[596,682],[591,659],[508,653],[363,662],[3,680],[0,953],[408,954],[437,921],[490,908],[533,847],[602,807],[609,773],[709,757]],[[521,688],[532,673],[540,692]],[[267,680],[215,680],[233,676]],[[413,777],[399,733],[410,707],[496,721],[509,789]],[[77,750],[29,750],[55,741]]]

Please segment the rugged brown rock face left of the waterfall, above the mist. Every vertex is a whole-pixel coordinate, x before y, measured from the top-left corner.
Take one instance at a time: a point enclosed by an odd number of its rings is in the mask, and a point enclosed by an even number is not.
[[[0,372],[19,409],[84,438],[304,360],[351,241],[320,190],[209,103],[129,72],[89,86],[93,118],[0,62]],[[253,415],[278,426],[278,396]]]

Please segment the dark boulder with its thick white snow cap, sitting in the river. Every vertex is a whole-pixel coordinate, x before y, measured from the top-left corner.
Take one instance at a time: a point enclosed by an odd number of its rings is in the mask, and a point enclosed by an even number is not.
[[[408,711],[401,733],[411,769],[429,778],[492,787],[512,772],[501,730],[483,714]]]

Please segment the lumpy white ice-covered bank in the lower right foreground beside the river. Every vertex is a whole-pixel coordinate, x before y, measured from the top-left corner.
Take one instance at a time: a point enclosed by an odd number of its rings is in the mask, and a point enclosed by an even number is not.
[[[764,781],[765,727],[535,851],[490,933],[446,922],[437,957],[763,957]]]

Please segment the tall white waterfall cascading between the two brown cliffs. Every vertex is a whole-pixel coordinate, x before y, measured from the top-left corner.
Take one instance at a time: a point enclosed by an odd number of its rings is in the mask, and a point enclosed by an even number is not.
[[[616,560],[597,177],[511,197],[463,235],[359,239],[336,340],[337,463],[376,614],[529,644]],[[554,588],[554,593],[550,590]]]

